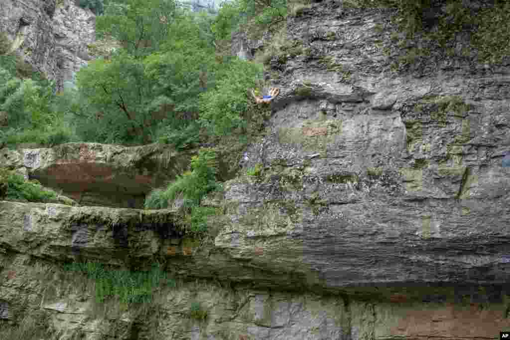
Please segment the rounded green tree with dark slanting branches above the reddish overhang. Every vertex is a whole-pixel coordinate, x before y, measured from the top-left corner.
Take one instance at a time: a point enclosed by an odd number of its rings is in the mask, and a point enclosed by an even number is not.
[[[144,69],[142,62],[127,54],[94,60],[82,68],[77,85],[90,108],[77,115],[78,125],[87,128],[79,133],[103,143],[148,142],[154,122],[150,120],[151,87]]]

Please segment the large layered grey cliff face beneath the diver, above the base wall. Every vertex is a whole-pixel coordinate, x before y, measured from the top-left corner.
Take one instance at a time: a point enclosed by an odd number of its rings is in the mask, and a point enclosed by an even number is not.
[[[216,246],[326,287],[508,282],[508,72],[392,71],[388,15],[321,3],[288,23],[302,53],[273,58],[282,93],[245,158],[264,171],[226,186]]]

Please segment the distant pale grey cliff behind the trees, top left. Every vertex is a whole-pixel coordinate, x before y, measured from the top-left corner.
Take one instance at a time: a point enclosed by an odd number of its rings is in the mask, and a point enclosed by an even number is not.
[[[95,16],[72,0],[4,0],[0,32],[12,41],[12,51],[60,90],[91,59],[87,45],[95,40]]]

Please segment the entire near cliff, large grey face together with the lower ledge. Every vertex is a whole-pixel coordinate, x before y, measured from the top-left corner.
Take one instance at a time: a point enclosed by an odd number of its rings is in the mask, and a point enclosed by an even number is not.
[[[87,340],[479,340],[510,329],[508,67],[452,56],[395,69],[393,30],[389,13],[338,3],[289,21],[287,53],[268,72],[282,92],[267,134],[204,202],[222,212],[208,221],[213,240],[185,235],[174,211],[0,202],[2,326],[29,315],[53,334],[38,338]],[[71,259],[158,259],[180,281],[118,310],[63,270]]]

